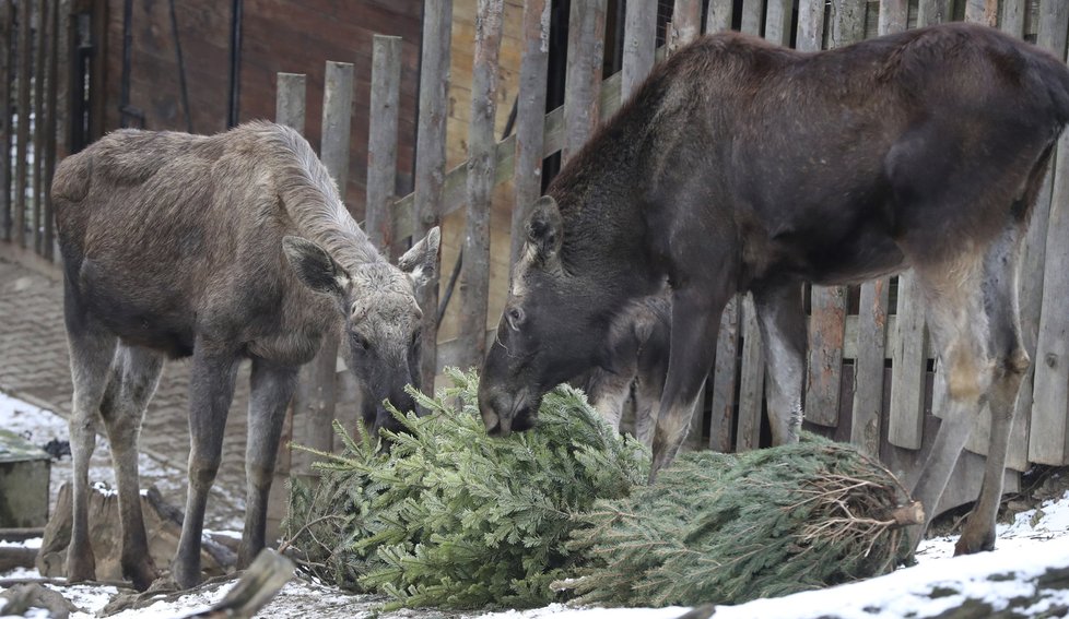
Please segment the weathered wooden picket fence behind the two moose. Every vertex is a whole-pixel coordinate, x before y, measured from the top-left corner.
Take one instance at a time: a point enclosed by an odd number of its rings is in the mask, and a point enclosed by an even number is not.
[[[54,260],[47,187],[57,157],[98,134],[98,119],[79,102],[93,96],[99,81],[93,49],[98,44],[93,13],[101,2],[0,0],[0,213],[3,239]],[[667,44],[655,49],[657,16],[653,2],[625,3],[622,71],[601,75],[607,0],[571,3],[566,97],[545,114],[550,0],[527,0],[520,24],[524,51],[515,131],[493,134],[497,100],[497,55],[504,27],[502,0],[479,0],[472,71],[470,158],[446,169],[446,116],[450,58],[449,0],[427,2],[424,12],[415,191],[395,197],[400,45],[376,37],[371,87],[368,178],[365,229],[384,250],[397,255],[410,238],[421,237],[447,214],[463,209],[463,262],[460,303],[466,319],[460,336],[436,337],[438,286],[428,286],[424,307],[424,384],[445,365],[478,365],[489,336],[487,299],[491,252],[515,257],[524,238],[528,207],[542,187],[542,160],[555,153],[566,159],[598,123],[610,117],[658,58],[702,32],[736,27],[802,50],[839,47],[861,38],[947,20],[968,20],[1025,37],[1065,58],[1069,2],[1065,0],[676,0],[665,31]],[[604,79],[603,79],[604,78]],[[90,87],[86,87],[86,84]],[[278,116],[304,130],[305,81],[280,74]],[[328,63],[320,155],[344,186],[349,168],[349,110],[353,67]],[[75,92],[77,91],[77,92]],[[73,96],[72,96],[73,95]],[[66,105],[64,105],[66,104]],[[463,105],[463,103],[458,104]],[[92,109],[86,106],[84,109]],[[1047,176],[1027,238],[1022,269],[1021,307],[1034,372],[1018,402],[1010,466],[1030,462],[1069,463],[1069,138],[1062,138]],[[491,247],[487,217],[491,193],[512,183],[515,203],[509,247]],[[440,271],[440,270],[439,270]],[[942,406],[939,370],[928,348],[923,308],[908,274],[851,288],[808,291],[811,353],[806,383],[807,425],[879,454],[905,473],[929,445]],[[495,320],[496,317],[489,317]],[[326,346],[304,371],[287,422],[289,438],[329,449],[329,421],[345,416],[348,380],[338,371],[337,347]],[[340,382],[339,382],[340,381]],[[716,361],[706,381],[702,417],[692,447],[721,451],[754,449],[763,431],[764,368],[752,301],[739,297],[721,319]],[[341,394],[341,395],[339,395]],[[763,438],[764,435],[764,438]],[[970,443],[983,454],[987,436],[980,424]],[[303,469],[294,452],[293,467]],[[953,483],[962,496],[975,491],[977,459],[964,457]],[[289,469],[283,459],[281,473]],[[948,498],[953,502],[955,498]]]

